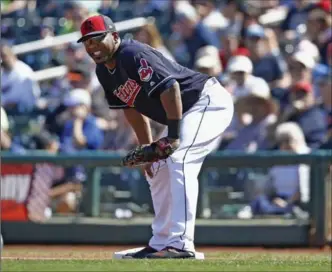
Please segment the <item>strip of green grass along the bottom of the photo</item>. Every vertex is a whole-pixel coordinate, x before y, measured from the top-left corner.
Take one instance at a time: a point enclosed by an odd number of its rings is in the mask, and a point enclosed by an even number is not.
[[[332,271],[330,253],[216,253],[206,260],[2,260],[2,271]]]

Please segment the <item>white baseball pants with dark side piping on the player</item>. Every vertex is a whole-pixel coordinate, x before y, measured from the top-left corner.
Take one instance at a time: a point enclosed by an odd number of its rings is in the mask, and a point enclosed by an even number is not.
[[[231,95],[215,78],[209,79],[199,101],[183,115],[179,148],[166,161],[153,164],[154,177],[147,177],[155,211],[151,247],[195,250],[198,174],[220,143],[233,111]]]

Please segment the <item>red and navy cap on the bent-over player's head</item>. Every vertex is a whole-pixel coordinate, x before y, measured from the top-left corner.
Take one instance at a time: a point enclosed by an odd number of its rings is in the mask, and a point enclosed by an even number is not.
[[[81,24],[82,37],[77,42],[80,43],[91,37],[114,31],[116,31],[116,28],[111,18],[104,15],[94,15]]]

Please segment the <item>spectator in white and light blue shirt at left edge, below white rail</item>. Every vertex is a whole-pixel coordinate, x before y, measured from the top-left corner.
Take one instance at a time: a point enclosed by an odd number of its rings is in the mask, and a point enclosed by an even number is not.
[[[1,45],[1,104],[14,112],[29,112],[35,107],[40,88],[34,72],[17,59],[12,49]]]

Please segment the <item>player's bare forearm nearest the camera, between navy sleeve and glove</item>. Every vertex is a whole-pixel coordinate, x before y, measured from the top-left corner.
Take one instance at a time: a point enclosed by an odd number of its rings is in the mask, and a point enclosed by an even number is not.
[[[182,119],[182,100],[179,83],[175,83],[160,95],[161,103],[167,115],[168,138],[177,148],[180,138],[180,122]]]

